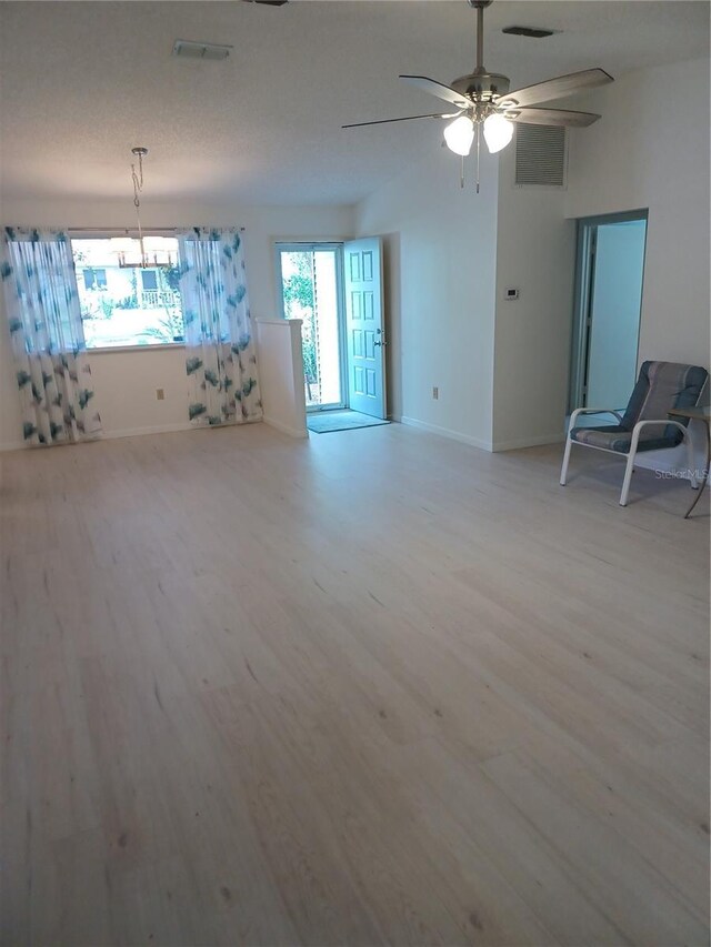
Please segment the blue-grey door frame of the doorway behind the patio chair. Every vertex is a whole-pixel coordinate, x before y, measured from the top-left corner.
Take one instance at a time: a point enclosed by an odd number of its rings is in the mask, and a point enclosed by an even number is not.
[[[644,231],[644,264],[647,265],[647,238],[649,234],[649,209],[640,208],[633,211],[598,214],[595,216],[578,218],[575,221],[575,276],[573,294],[573,331],[570,354],[570,382],[568,387],[568,414],[577,407],[588,407],[588,360],[590,354],[590,334],[592,329],[593,286],[595,276],[595,248],[598,228],[609,223],[625,223],[627,221],[643,220]],[[642,270],[642,298],[644,293],[644,270]],[[642,298],[640,298],[640,324],[642,318]],[[639,361],[640,333],[637,334],[637,351]],[[598,407],[599,405],[590,405]]]

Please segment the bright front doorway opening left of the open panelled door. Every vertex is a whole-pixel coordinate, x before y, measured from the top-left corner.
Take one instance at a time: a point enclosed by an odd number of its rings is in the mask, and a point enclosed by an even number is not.
[[[347,406],[340,243],[278,243],[277,274],[284,319],[302,320],[307,411]]]

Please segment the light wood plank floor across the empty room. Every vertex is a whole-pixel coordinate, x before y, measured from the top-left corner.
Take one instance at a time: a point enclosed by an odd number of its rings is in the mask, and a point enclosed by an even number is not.
[[[1,456],[3,943],[707,944],[708,503],[560,454]]]

